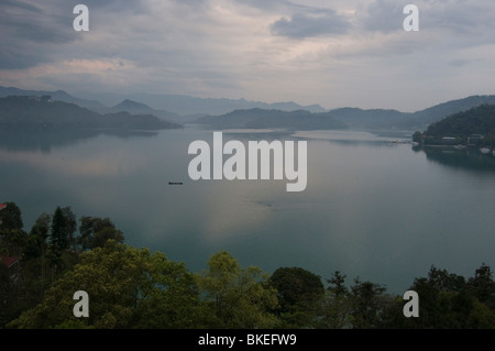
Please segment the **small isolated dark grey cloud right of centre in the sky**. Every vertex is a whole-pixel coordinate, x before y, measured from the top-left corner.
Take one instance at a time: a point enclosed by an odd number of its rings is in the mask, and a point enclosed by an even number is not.
[[[343,34],[351,28],[349,20],[332,10],[297,12],[271,25],[272,34],[295,39]]]

